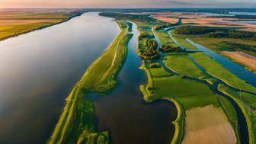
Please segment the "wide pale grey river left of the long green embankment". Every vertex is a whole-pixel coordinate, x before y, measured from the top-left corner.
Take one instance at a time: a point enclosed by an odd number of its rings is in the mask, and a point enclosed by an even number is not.
[[[0,42],[0,143],[45,143],[69,91],[118,33],[85,13]]]

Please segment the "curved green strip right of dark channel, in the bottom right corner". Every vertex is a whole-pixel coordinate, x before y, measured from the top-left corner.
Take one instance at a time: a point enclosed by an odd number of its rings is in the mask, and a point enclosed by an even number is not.
[[[253,109],[248,106],[248,104],[245,104],[242,101],[242,98],[240,98],[239,94],[235,91],[232,91],[225,85],[218,85],[218,90],[222,91],[224,94],[228,95],[230,98],[232,98],[236,104],[238,104],[238,107],[242,110],[242,113],[245,116],[246,123],[248,126],[248,134],[249,134],[249,143],[254,144],[256,142],[256,115]],[[247,94],[248,96],[248,94]],[[251,95],[251,98],[254,98],[254,95]],[[255,101],[255,98],[254,98]]]

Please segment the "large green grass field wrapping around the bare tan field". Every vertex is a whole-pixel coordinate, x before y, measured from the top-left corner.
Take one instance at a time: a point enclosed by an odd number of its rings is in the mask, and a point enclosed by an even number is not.
[[[180,55],[181,57],[186,56],[184,54]],[[181,60],[179,63],[181,65],[186,63],[185,65],[187,65],[186,60]],[[145,61],[142,62],[141,68],[144,69],[148,75],[148,85],[140,86],[144,100],[148,102],[152,102],[158,99],[172,101],[178,110],[178,117],[173,122],[175,126],[175,133],[171,143],[183,142],[184,133],[186,133],[184,131],[185,111],[194,107],[205,107],[208,105],[222,108],[223,113],[226,114],[226,117],[229,119],[229,123],[231,123],[233,129],[235,130],[236,137],[239,137],[237,115],[235,113],[234,107],[232,107],[232,104],[230,104],[228,100],[218,96],[213,91],[211,91],[207,85],[182,78],[178,75],[166,75],[166,72],[163,72],[165,69],[162,69],[162,67],[150,68],[148,62]],[[158,69],[158,71],[162,72],[163,75],[159,76],[159,72],[155,72],[155,69]],[[187,68],[179,69],[183,72],[184,69]],[[190,72],[197,73],[197,71],[198,69]],[[199,73],[192,75],[198,76],[198,74]]]

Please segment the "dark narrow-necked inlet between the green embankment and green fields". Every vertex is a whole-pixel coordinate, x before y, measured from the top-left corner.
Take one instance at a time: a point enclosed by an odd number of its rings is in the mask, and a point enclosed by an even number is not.
[[[169,144],[174,134],[171,123],[177,117],[174,104],[168,101],[156,101],[146,104],[142,100],[139,85],[146,85],[147,75],[136,54],[136,26],[133,24],[133,39],[118,83],[114,91],[105,96],[92,95],[98,118],[98,130],[110,130],[113,144]]]

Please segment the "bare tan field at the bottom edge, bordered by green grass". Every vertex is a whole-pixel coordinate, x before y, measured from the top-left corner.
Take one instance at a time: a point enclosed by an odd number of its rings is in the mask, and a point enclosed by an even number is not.
[[[235,132],[221,108],[208,105],[186,110],[184,144],[235,142]]]

